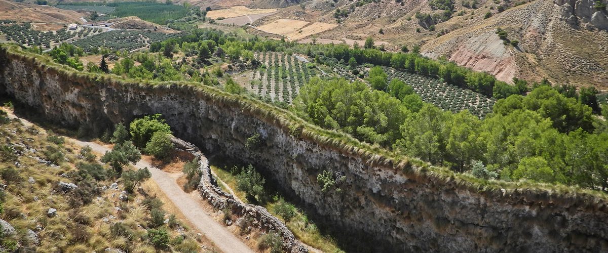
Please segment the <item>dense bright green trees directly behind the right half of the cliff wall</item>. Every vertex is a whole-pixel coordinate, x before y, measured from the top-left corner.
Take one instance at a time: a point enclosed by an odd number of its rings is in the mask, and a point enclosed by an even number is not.
[[[312,79],[292,110],[319,126],[457,172],[608,187],[608,124],[553,87],[499,100],[494,113],[480,120],[466,110],[444,112],[422,103],[397,82],[386,93],[359,81]]]

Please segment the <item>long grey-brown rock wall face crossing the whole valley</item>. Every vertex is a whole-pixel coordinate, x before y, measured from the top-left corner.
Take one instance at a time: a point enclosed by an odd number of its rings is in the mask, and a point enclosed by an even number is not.
[[[563,191],[482,191],[453,178],[395,169],[355,149],[334,146],[331,137],[321,142],[303,133],[294,136],[280,123],[285,119],[268,116],[260,104],[210,88],[67,75],[0,52],[0,95],[29,105],[49,121],[84,124],[93,132],[162,113],[177,137],[204,152],[257,166],[318,224],[340,231],[334,236],[350,251],[608,251],[603,198]],[[263,144],[246,149],[254,133]],[[342,193],[321,191],[317,175],[323,170],[344,175]]]

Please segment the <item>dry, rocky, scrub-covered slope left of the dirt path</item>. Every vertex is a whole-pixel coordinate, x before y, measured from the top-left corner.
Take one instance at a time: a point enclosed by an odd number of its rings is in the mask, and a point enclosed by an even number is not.
[[[181,225],[174,215],[164,214],[170,222],[151,228],[148,221],[153,219],[153,214],[143,203],[152,201],[144,201],[147,198],[139,194],[130,194],[128,200],[119,199],[120,192],[128,187],[126,174],[139,174],[139,171],[126,170],[122,178],[116,178],[110,167],[87,158],[91,155],[90,149],[47,135],[38,127],[7,123],[0,129],[0,135],[3,137],[0,146],[10,146],[10,152],[16,153],[10,161],[0,160],[0,183],[6,186],[0,190],[0,215],[15,229],[14,233],[0,235],[0,251],[196,252],[201,249],[196,241],[199,236]],[[67,159],[56,165],[44,162],[43,152],[47,146],[56,147]],[[0,150],[0,157],[2,153],[4,150]],[[64,189],[59,185],[62,181],[77,187]],[[113,183],[117,183],[116,189],[102,188]],[[147,186],[143,188],[148,191]],[[56,213],[48,214],[50,208]]]

